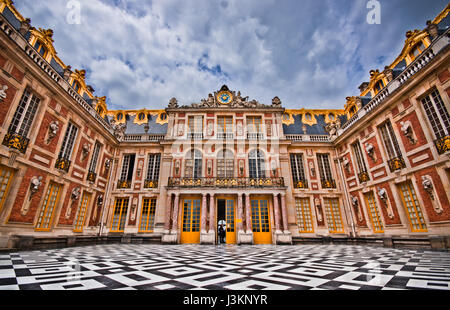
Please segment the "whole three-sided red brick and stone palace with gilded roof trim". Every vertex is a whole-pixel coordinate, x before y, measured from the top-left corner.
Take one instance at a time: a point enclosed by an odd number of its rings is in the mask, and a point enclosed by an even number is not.
[[[189,106],[117,111],[57,56],[52,30],[1,0],[0,248],[217,244],[220,224],[229,244],[450,247],[449,11],[408,31],[342,110],[289,110],[224,85]]]

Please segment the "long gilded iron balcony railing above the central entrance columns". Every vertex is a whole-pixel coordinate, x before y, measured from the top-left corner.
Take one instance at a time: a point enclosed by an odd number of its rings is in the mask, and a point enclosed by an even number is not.
[[[258,188],[284,187],[283,178],[169,178],[168,187]]]

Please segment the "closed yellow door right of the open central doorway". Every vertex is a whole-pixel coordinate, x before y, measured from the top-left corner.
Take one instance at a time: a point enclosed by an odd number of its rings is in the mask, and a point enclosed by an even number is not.
[[[269,202],[266,199],[254,199],[252,206],[253,242],[255,244],[271,244]]]

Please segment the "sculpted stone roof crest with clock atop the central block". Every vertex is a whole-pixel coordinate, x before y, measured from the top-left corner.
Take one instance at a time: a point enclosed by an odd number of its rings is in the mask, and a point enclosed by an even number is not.
[[[241,92],[231,91],[228,86],[224,85],[219,91],[210,93],[207,98],[202,99],[200,103],[192,103],[190,106],[183,105],[178,106],[178,102],[175,98],[172,98],[169,102],[169,109],[204,109],[204,108],[280,108],[281,100],[275,97],[272,100],[272,105],[265,105],[259,103],[257,100],[249,100],[249,97],[243,97]]]

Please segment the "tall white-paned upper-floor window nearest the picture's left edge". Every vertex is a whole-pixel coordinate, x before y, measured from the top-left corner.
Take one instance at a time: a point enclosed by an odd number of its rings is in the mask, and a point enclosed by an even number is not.
[[[8,132],[18,134],[26,138],[40,102],[41,100],[38,97],[30,93],[28,90],[25,90],[22,98],[20,99],[19,106],[14,113]]]

